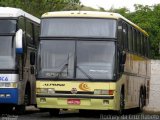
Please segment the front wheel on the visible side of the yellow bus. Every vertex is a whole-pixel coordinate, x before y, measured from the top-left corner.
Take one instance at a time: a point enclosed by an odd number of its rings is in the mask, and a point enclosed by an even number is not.
[[[121,92],[120,102],[119,102],[119,111],[118,111],[119,115],[122,115],[124,113],[124,108],[125,108],[124,92]]]

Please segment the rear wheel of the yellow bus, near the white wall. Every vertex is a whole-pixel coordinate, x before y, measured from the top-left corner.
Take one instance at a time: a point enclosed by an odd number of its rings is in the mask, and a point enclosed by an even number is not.
[[[140,93],[139,93],[139,107],[138,107],[139,112],[143,111],[143,107],[145,105],[145,98],[144,97],[145,96],[144,96],[142,89],[141,89]]]

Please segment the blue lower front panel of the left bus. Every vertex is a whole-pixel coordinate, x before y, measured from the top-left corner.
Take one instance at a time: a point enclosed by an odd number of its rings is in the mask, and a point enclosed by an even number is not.
[[[11,97],[1,97],[1,94],[10,94]],[[18,88],[1,88],[0,104],[18,104]]]

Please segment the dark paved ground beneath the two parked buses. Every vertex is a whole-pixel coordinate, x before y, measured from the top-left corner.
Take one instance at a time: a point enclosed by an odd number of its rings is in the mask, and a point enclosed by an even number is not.
[[[0,120],[160,120],[160,115],[138,113],[135,109],[127,110],[124,115],[118,116],[113,111],[87,111],[80,114],[78,110],[61,111],[58,117],[50,117],[48,112],[28,107],[24,115],[3,114]]]

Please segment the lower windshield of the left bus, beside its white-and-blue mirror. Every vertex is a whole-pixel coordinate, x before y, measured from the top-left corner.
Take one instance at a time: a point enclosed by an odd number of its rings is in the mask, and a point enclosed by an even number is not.
[[[0,69],[15,68],[13,36],[0,36]]]

